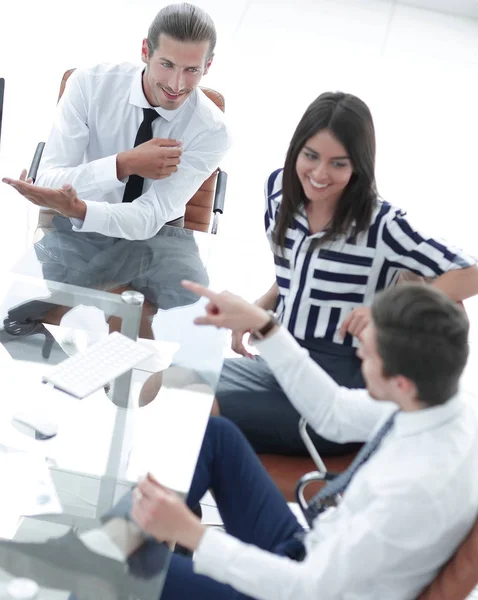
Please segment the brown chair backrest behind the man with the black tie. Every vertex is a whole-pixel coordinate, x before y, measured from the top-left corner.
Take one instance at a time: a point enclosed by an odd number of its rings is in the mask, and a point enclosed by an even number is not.
[[[61,84],[60,92],[58,94],[58,100],[61,98],[68,77],[73,73],[75,69],[69,69],[65,71]],[[225,109],[224,96],[215,90],[210,88],[202,87],[201,90],[206,96],[219,107],[222,112]],[[215,171],[206,181],[201,185],[198,191],[186,204],[186,212],[184,213],[184,226],[187,229],[194,229],[196,231],[208,231],[209,224],[211,222],[212,207],[214,204],[214,191],[216,189],[217,171]]]

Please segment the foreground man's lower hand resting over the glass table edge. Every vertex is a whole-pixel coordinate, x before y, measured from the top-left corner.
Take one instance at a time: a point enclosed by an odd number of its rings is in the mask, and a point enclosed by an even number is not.
[[[178,542],[196,550],[205,527],[177,494],[148,475],[133,492],[131,516],[146,533],[160,542]]]

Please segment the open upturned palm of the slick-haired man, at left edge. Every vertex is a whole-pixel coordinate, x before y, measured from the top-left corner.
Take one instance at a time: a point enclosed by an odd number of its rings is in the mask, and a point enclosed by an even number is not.
[[[85,202],[78,198],[75,190],[69,184],[56,190],[33,185],[32,180],[27,179],[26,169],[22,171],[20,179],[4,177],[2,181],[15,188],[32,204],[56,210],[64,217],[84,220],[86,216]]]

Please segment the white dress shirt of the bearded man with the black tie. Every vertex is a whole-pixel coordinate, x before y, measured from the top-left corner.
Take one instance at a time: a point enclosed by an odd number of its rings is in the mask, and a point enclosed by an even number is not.
[[[181,140],[178,171],[166,179],[145,179],[144,193],[122,204],[127,178],[119,181],[116,155],[130,150],[151,108],[142,88],[143,68],[131,64],[77,69],[67,81],[45,146],[37,185],[71,184],[87,205],[75,229],[148,239],[173,219],[213,173],[229,145],[221,110],[199,89],[177,110],[154,107],[160,115],[153,137]]]

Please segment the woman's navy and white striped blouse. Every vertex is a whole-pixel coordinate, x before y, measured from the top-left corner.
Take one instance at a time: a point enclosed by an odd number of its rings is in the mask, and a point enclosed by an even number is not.
[[[279,286],[277,312],[299,340],[324,338],[358,346],[339,335],[345,317],[358,306],[371,306],[375,294],[396,283],[400,271],[436,277],[475,260],[443,241],[424,236],[409,224],[405,212],[378,201],[368,231],[355,239],[342,236],[313,252],[308,248],[323,232],[310,234],[305,210],[287,230],[284,255],[272,242],[282,200],[282,169],[266,183],[265,226],[274,253]]]

